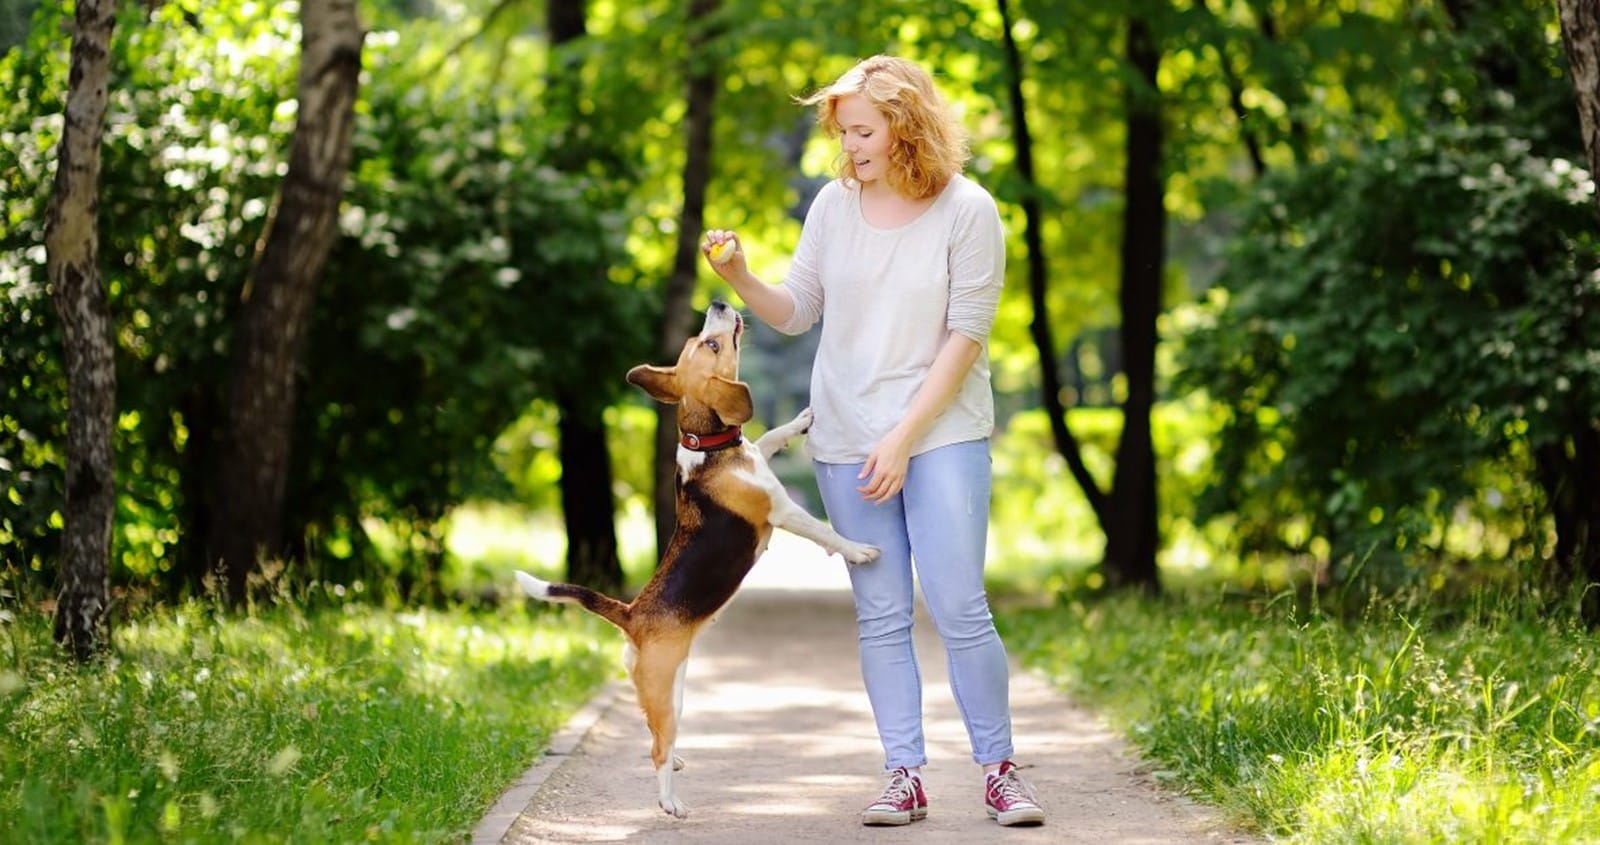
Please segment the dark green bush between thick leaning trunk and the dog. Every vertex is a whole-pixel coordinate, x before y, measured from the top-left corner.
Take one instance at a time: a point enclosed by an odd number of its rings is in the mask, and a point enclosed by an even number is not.
[[[370,51],[346,237],[310,339],[328,366],[304,395],[298,501],[317,533],[426,525],[506,495],[491,447],[530,402],[608,405],[650,347],[618,331],[653,317],[608,280],[624,264],[616,184],[549,166],[536,109],[470,96],[470,69],[434,82],[424,46]]]

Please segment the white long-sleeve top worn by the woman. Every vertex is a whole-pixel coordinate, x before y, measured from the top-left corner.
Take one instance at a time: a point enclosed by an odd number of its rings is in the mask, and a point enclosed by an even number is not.
[[[822,322],[811,365],[813,458],[866,461],[910,408],[950,333],[982,350],[912,455],[994,432],[989,330],[1005,285],[1005,230],[978,182],[954,176],[894,229],[866,221],[859,186],[829,182],[806,211],[782,285],[794,315],[773,328],[800,334]]]

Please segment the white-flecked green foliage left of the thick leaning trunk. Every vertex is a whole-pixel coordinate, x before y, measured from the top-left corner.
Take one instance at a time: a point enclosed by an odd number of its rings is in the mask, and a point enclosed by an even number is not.
[[[34,37],[0,69],[6,155],[18,155],[0,198],[14,221],[0,251],[0,309],[26,317],[0,320],[6,349],[24,352],[0,358],[0,384],[27,394],[27,403],[6,403],[8,426],[35,443],[18,453],[0,442],[0,455],[19,479],[37,479],[13,528],[38,538],[18,562],[32,570],[53,557],[48,535],[59,528],[59,517],[40,514],[61,507],[66,386],[42,243],[66,90],[64,14],[42,8]],[[293,8],[168,3],[144,14],[125,10],[112,42],[118,85],[109,91],[99,195],[101,272],[117,320],[118,578],[171,567],[182,507],[202,482],[195,456],[218,421],[232,304],[277,186],[275,152],[293,126],[280,107],[293,88]]]

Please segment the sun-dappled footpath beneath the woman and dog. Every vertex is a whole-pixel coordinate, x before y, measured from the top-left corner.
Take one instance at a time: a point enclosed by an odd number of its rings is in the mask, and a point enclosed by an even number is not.
[[[939,639],[923,615],[915,632],[928,738],[925,821],[861,826],[861,808],[883,786],[883,757],[856,663],[843,562],[779,536],[690,658],[678,733],[686,768],[675,778],[690,818],[656,808],[650,731],[632,687],[619,682],[552,739],[550,752],[490,810],[472,842],[1258,842],[1157,787],[1091,714],[1016,669],[1016,762],[1050,821],[998,827],[984,813],[981,771],[950,696]]]

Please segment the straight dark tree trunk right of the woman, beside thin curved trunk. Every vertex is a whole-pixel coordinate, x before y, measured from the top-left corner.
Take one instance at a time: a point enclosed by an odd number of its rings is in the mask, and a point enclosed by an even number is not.
[[[1166,206],[1162,178],[1162,107],[1157,70],[1162,53],[1147,21],[1128,22],[1128,62],[1141,85],[1125,94],[1128,155],[1122,213],[1122,357],[1128,398],[1122,406],[1122,439],[1106,525],[1106,583],[1112,587],[1160,591],[1155,570],[1155,322],[1162,314],[1162,270],[1166,266]]]

